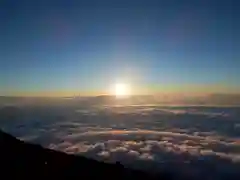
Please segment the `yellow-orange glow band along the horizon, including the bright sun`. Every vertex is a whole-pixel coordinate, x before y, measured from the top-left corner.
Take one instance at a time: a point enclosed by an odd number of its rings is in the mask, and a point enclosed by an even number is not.
[[[76,97],[76,96],[99,96],[113,95],[116,97],[134,96],[134,95],[168,95],[178,96],[205,96],[208,94],[239,94],[240,87],[226,85],[145,85],[130,86],[127,83],[112,84],[110,88],[74,91],[74,90],[52,90],[52,91],[18,91],[5,90],[0,91],[1,96],[23,96],[23,97]]]

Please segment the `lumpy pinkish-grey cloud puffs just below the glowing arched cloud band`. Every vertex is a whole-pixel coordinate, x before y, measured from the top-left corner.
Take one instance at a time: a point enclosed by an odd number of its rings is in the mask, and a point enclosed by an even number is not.
[[[68,145],[70,147],[67,147]],[[53,146],[51,145],[50,147]],[[63,149],[64,147],[67,148]],[[192,157],[212,156],[220,159],[227,159],[236,163],[239,162],[239,154],[216,152],[212,149],[206,149],[203,146],[192,142],[192,140],[179,140],[178,143],[172,143],[166,140],[108,140],[90,145],[84,143],[72,145],[71,143],[64,142],[53,148],[63,150],[67,153],[80,153],[84,155],[84,153],[88,152],[109,158],[111,158],[111,154],[115,154],[116,157],[116,153],[121,153],[121,156],[124,155],[126,157],[129,156],[138,159],[155,160],[154,157],[161,157],[161,159],[164,159],[164,153],[172,153],[179,156],[182,154],[188,154]]]

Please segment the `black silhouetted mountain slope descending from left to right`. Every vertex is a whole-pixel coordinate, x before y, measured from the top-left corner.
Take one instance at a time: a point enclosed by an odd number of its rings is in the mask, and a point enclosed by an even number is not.
[[[172,179],[20,141],[0,131],[0,179]]]

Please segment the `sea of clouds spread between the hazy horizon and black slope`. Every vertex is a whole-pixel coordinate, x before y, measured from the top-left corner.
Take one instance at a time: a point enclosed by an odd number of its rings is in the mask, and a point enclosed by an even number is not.
[[[237,107],[21,107],[1,129],[28,142],[194,179],[239,179]]]

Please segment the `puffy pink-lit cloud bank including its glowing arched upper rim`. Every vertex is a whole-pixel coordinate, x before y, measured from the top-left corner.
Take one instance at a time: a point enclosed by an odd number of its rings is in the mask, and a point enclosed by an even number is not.
[[[149,133],[158,134],[158,139],[148,139],[146,140],[139,140],[137,135],[141,135],[142,139],[144,139],[144,136],[148,135]],[[149,131],[104,131],[104,132],[94,132],[87,134],[81,134],[84,136],[84,139],[88,139],[90,137],[91,139],[91,145],[81,144],[79,145],[79,151],[76,145],[72,145],[73,149],[75,149],[75,153],[82,153],[82,152],[91,152],[95,154],[101,154],[101,152],[108,152],[108,156],[111,156],[112,153],[125,153],[127,156],[132,157],[138,157],[140,159],[154,159],[154,156],[160,157],[161,153],[173,153],[173,154],[187,154],[188,156],[215,156],[217,158],[224,158],[228,159],[233,162],[239,161],[239,153],[229,153],[227,151],[224,152],[224,150],[228,149],[228,146],[233,146],[235,148],[239,148],[239,145],[222,142],[222,141],[216,141],[212,138],[208,137],[201,137],[201,136],[190,136],[190,135],[182,135],[177,133],[169,133],[169,132],[149,132]],[[77,137],[81,139],[81,135],[78,134]],[[87,136],[88,135],[88,136]],[[102,136],[103,140],[102,142],[99,142],[101,140],[101,135],[108,135],[108,138],[112,140],[104,140],[105,136]],[[124,135],[124,136],[122,136]],[[92,141],[92,137],[96,137],[96,143]],[[72,137],[72,136],[71,136]],[[120,137],[120,138],[119,138]],[[75,142],[76,136],[73,136],[73,142]],[[100,139],[99,139],[100,138]],[[134,140],[136,138],[136,140]],[[141,139],[140,138],[140,139]],[[131,140],[129,140],[131,139]],[[68,141],[71,141],[71,139],[68,137]],[[67,142],[68,142],[67,141]],[[203,143],[200,143],[203,142]],[[212,143],[214,142],[214,146],[212,146]],[[62,143],[58,146],[54,147],[54,149],[69,152],[69,147],[63,149],[62,147],[71,146],[71,143]],[[214,148],[210,149],[210,147],[215,146],[221,146],[222,148],[219,149],[219,151],[214,151]],[[52,146],[49,146],[52,148]],[[225,147],[225,149],[223,148]],[[82,150],[84,149],[84,151]],[[106,154],[106,153],[103,153]],[[148,154],[148,156],[147,156]],[[146,158],[148,157],[148,158]],[[163,157],[161,157],[163,158]]]

